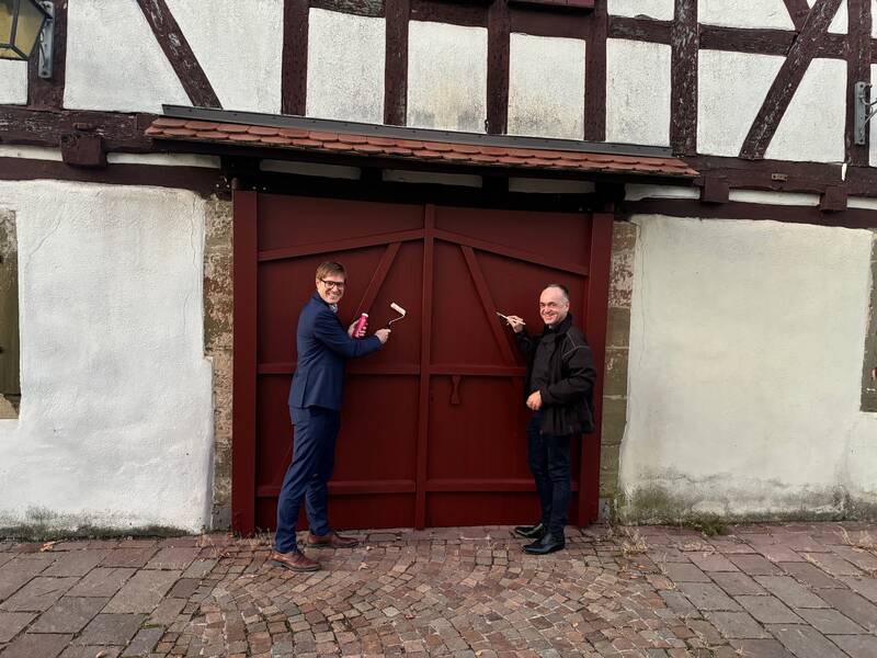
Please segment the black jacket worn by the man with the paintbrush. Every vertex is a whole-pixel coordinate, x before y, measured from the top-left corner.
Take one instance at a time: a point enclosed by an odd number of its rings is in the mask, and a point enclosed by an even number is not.
[[[542,340],[554,341],[548,360],[548,385],[542,395],[542,433],[563,436],[594,431],[594,358],[584,334],[572,325],[572,315],[563,318],[554,331],[529,336],[526,328],[515,333],[517,347],[527,360],[524,399],[529,397],[533,359]]]

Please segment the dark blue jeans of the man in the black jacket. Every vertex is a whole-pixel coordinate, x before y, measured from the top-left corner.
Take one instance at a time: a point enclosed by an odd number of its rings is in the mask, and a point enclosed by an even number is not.
[[[551,436],[539,432],[542,413],[536,411],[527,423],[527,461],[542,506],[542,522],[556,537],[563,536],[572,475],[569,464],[571,436]]]

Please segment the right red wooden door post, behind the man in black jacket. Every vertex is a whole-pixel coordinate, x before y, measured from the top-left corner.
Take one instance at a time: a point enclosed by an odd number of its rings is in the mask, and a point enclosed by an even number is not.
[[[606,322],[608,320],[610,265],[612,259],[613,216],[592,217],[591,277],[588,282],[588,317],[584,333],[596,364],[594,385],[594,423],[596,431],[582,439],[581,488],[579,489],[579,524],[586,525],[600,515],[600,445],[603,421],[603,383],[606,358]]]

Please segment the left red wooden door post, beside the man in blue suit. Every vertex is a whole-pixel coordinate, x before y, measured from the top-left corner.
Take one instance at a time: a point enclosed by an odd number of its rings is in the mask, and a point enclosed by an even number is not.
[[[231,526],[255,531],[255,363],[258,195],[235,192]]]

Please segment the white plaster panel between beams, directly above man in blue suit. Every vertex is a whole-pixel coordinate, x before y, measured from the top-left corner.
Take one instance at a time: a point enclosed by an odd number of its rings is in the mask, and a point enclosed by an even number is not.
[[[307,115],[384,123],[386,22],[311,9]]]

